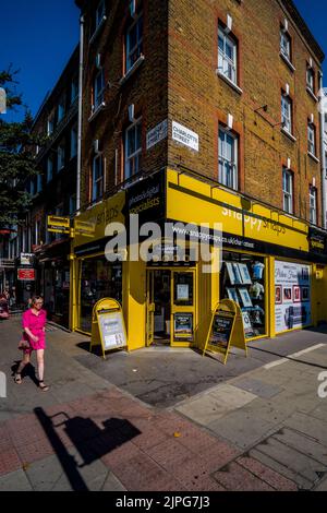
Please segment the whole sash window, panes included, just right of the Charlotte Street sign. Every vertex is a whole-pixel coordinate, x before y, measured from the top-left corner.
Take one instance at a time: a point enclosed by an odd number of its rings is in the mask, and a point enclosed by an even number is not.
[[[219,129],[219,183],[238,189],[238,139]]]

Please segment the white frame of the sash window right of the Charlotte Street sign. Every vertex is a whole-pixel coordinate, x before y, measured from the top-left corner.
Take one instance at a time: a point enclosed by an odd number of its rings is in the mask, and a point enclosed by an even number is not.
[[[223,145],[221,152],[220,134],[223,134]],[[227,138],[231,138],[233,141],[232,147],[232,159],[227,156]],[[227,174],[229,168],[229,174]],[[239,188],[239,138],[219,127],[218,131],[218,181],[229,189],[238,190]]]

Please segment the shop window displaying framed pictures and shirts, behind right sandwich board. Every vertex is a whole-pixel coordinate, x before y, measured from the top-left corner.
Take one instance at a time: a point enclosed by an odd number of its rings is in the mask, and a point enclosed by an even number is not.
[[[231,299],[240,306],[246,338],[266,335],[265,260],[223,251],[220,299]]]

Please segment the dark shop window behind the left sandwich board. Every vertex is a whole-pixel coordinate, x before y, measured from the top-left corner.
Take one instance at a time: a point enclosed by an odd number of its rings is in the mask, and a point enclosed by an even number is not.
[[[110,263],[105,256],[81,262],[80,330],[90,333],[92,312],[104,298],[122,301],[122,263]]]

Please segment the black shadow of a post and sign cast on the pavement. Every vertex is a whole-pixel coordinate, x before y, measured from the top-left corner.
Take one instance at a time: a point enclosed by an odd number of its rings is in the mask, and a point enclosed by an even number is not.
[[[34,413],[51,443],[63,472],[65,473],[74,491],[88,490],[86,482],[78,472],[80,468],[90,465],[114,449],[141,434],[141,431],[135,428],[135,426],[124,419],[108,419],[102,422],[105,429],[100,429],[89,418],[70,418],[64,411],[52,417],[47,416],[43,408],[35,408]],[[56,417],[64,417],[65,420],[56,425],[53,422]],[[75,457],[68,452],[64,443],[56,432],[56,428],[62,426],[64,427],[64,433],[69,437],[83,460],[83,463],[80,465]]]

